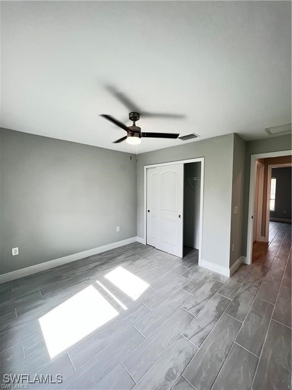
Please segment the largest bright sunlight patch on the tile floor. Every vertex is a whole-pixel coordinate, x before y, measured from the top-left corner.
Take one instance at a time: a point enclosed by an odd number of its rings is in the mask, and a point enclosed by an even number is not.
[[[51,359],[118,314],[96,288],[89,286],[40,317]]]

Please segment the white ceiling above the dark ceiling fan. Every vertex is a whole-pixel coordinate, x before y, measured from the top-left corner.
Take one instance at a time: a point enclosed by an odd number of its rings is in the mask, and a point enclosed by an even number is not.
[[[290,2],[1,2],[1,125],[130,151],[123,93],[144,132],[268,137],[291,121]],[[134,108],[134,107],[133,107]],[[196,142],[196,141],[193,141]],[[142,139],[138,152],[181,145]]]

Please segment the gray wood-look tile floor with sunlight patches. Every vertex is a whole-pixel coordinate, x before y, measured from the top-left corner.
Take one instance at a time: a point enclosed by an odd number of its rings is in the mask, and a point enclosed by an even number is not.
[[[130,244],[0,285],[0,372],[29,388],[284,390],[291,376],[291,226],[271,223],[227,278]],[[1,382],[2,383],[2,382]]]

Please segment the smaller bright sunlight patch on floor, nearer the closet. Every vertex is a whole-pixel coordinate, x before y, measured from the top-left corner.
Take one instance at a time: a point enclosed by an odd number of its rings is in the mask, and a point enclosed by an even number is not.
[[[123,267],[115,268],[104,277],[119,287],[134,301],[149,287],[148,283]]]

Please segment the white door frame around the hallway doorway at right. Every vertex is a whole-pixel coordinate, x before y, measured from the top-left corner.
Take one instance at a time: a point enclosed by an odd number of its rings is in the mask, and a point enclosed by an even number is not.
[[[250,174],[249,174],[249,199],[248,199],[248,216],[247,216],[247,243],[246,243],[246,261],[245,264],[251,264],[252,256],[252,227],[253,227],[253,203],[254,203],[254,185],[255,185],[255,161],[258,158],[281,157],[291,155],[292,150],[281,150],[277,152],[258,153],[250,155]],[[268,202],[267,202],[268,208]],[[267,232],[267,226],[266,226]]]

